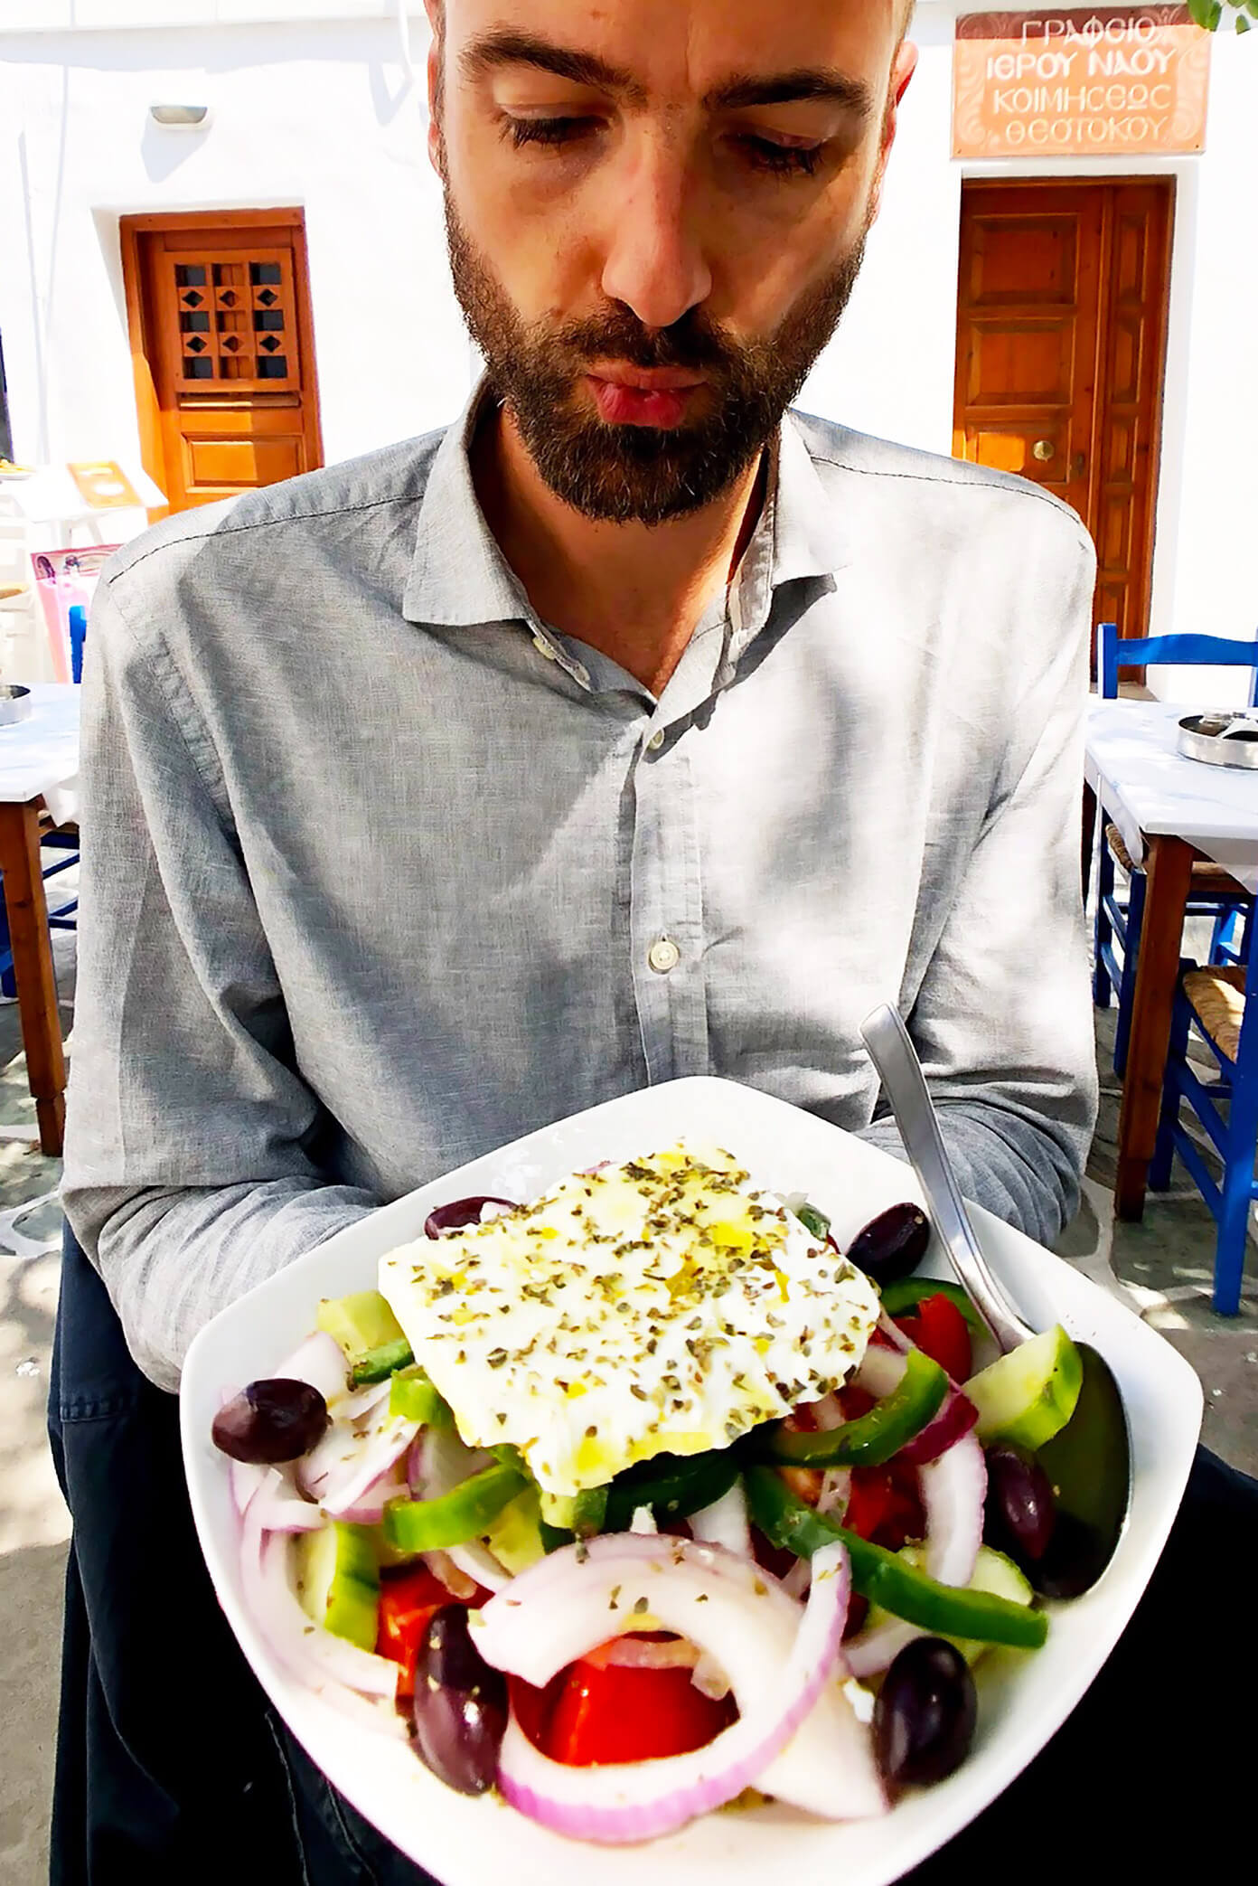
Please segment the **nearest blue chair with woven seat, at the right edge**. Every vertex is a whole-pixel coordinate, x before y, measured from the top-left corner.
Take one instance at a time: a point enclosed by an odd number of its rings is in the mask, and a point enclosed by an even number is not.
[[[1258,1198],[1254,1152],[1258,1150],[1258,975],[1254,966],[1258,926],[1249,926],[1245,964],[1198,968],[1181,962],[1171,1043],[1162,1084],[1158,1141],[1149,1167],[1149,1186],[1166,1192],[1171,1162],[1179,1152],[1196,1188],[1218,1224],[1215,1239],[1215,1296],[1220,1316],[1241,1307],[1249,1207]],[[1218,1079],[1205,1083],[1188,1060],[1198,1035],[1215,1062]],[[1201,1147],[1181,1118],[1181,1105],[1196,1113],[1222,1160],[1222,1183],[1205,1164]],[[1220,1101],[1226,1111],[1220,1111]]]

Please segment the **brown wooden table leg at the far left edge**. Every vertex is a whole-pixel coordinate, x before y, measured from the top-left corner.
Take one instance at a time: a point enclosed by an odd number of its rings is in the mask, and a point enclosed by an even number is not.
[[[66,1128],[66,1056],[60,1045],[57,977],[40,875],[38,803],[0,805],[0,871],[9,917],[17,1013],[26,1051],[26,1079],[40,1120],[40,1149],[60,1156]]]

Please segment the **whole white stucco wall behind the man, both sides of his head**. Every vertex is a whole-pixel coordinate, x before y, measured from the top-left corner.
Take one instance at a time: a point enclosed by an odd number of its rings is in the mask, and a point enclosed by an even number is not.
[[[949,151],[964,9],[919,6],[920,70],[883,219],[802,404],[947,453],[962,177],[1175,175],[1152,628],[1252,636],[1258,375],[1241,349],[1258,311],[1247,183],[1258,34],[1217,36],[1201,157],[962,166]],[[155,19],[189,25],[145,30]],[[258,19],[275,25],[241,25]],[[77,25],[13,30],[36,21]],[[424,155],[422,72],[411,83],[404,68],[396,0],[4,0],[0,28],[0,332],[19,455],[136,449],[117,219],[149,209],[304,207],[328,460],[456,411],[472,355]],[[421,66],[422,19],[411,32]],[[209,104],[207,128],[155,128],[147,108],[162,100]],[[1198,677],[1207,687],[1232,698]]]

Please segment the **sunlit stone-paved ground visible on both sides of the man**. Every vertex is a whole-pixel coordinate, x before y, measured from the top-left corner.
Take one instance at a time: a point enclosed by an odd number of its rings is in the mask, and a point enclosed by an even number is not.
[[[62,990],[72,958],[62,958]],[[1194,1364],[1205,1384],[1205,1441],[1258,1473],[1258,1262],[1241,1316],[1209,1309],[1213,1220],[1186,1183],[1152,1199],[1145,1222],[1113,1222],[1118,1120],[1109,1071],[1111,1020],[1098,1018],[1101,1118],[1083,1211],[1060,1250],[1118,1292]],[[47,1799],[57,1720],[60,1579],[68,1518],[43,1437],[57,1307],[55,1160],[30,1149],[34,1107],[17,1017],[0,1009],[0,1886],[47,1877]],[[28,1201],[45,1199],[30,1207]],[[119,1882],[121,1886],[121,1882]]]

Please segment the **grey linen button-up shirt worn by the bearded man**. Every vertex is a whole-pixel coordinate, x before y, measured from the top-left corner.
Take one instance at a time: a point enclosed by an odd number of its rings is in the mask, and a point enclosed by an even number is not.
[[[1041,1239],[1077,1201],[1079,519],[792,413],[654,700],[538,620],[475,411],[170,517],[98,588],[64,1201],[164,1388],[332,1232],[645,1083],[896,1149],[879,1001],[964,1190]]]

